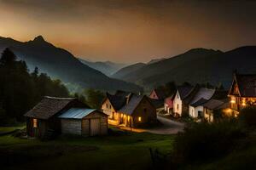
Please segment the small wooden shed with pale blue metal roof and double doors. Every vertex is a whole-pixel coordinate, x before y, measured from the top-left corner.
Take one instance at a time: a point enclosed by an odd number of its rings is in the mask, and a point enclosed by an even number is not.
[[[83,136],[108,133],[108,115],[96,109],[71,108],[58,117],[61,119],[61,133]]]

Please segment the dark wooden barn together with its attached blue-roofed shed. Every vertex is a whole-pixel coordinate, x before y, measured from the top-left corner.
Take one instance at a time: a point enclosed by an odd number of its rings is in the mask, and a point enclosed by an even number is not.
[[[26,131],[30,137],[44,138],[49,135],[73,133],[101,135],[108,131],[108,116],[91,110],[88,105],[74,98],[44,97],[28,111]]]

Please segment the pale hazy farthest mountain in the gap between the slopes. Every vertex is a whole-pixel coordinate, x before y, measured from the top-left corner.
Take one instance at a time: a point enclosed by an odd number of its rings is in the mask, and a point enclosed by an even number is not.
[[[114,72],[119,71],[122,67],[125,66],[125,64],[120,64],[120,63],[113,63],[111,61],[96,61],[96,62],[91,62],[86,59],[79,59],[84,65],[90,66],[90,68],[93,68],[97,71],[101,71],[107,76],[112,75]]]

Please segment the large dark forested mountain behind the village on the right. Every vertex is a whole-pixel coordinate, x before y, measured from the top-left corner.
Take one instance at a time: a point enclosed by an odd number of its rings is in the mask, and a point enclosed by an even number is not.
[[[144,88],[170,81],[194,84],[210,82],[215,85],[222,82],[228,88],[235,70],[256,73],[256,46],[236,48],[228,52],[195,48],[184,54],[145,65],[121,79],[136,82]]]

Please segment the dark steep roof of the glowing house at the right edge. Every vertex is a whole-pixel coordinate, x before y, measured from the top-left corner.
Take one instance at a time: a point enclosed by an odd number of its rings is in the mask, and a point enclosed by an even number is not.
[[[235,77],[241,97],[256,97],[256,75],[236,74]]]

